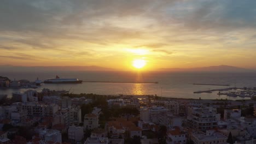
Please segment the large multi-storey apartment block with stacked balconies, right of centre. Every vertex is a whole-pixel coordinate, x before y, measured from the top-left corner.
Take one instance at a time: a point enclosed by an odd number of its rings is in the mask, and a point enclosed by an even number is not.
[[[196,130],[217,128],[216,109],[213,107],[188,107],[187,124]]]

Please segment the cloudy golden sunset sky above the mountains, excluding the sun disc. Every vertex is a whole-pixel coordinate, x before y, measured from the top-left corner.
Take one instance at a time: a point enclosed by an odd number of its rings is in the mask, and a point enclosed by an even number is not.
[[[255,0],[2,0],[0,65],[256,69]]]

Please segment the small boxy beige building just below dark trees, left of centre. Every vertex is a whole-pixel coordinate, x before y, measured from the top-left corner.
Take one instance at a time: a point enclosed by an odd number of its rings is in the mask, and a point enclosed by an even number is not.
[[[84,129],[95,129],[98,126],[98,115],[89,113],[84,116]]]

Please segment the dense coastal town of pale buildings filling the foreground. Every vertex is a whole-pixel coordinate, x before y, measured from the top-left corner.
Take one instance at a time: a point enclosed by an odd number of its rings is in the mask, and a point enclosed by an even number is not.
[[[1,143],[254,143],[256,101],[72,94],[2,98]]]

